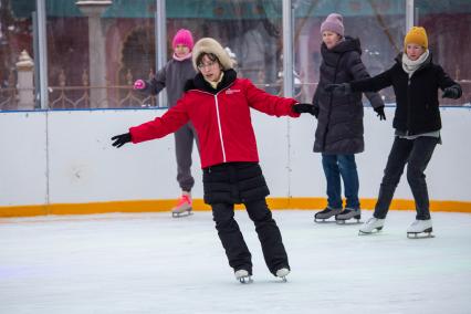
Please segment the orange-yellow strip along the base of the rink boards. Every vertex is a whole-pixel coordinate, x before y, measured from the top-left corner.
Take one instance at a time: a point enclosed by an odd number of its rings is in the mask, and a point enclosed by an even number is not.
[[[129,201],[107,201],[88,203],[51,203],[31,206],[8,206],[0,207],[0,218],[30,217],[45,214],[93,214],[109,212],[160,212],[169,211],[176,199],[159,200],[129,200]],[[271,209],[276,210],[313,210],[326,207],[324,198],[268,198],[266,202]],[[374,209],[376,199],[360,199],[362,209]],[[391,210],[415,210],[414,200],[395,199]],[[242,205],[237,205],[236,209],[243,209]],[[193,200],[195,211],[207,211],[210,207],[202,199]],[[471,213],[470,201],[430,201],[431,211],[467,212]]]

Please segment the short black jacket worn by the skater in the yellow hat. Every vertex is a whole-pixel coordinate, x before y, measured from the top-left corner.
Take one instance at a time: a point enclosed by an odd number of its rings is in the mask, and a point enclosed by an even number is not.
[[[421,66],[409,75],[402,70],[402,53],[391,69],[375,77],[352,82],[352,91],[379,91],[391,86],[396,94],[396,113],[393,126],[408,135],[423,134],[441,128],[438,88],[461,86],[432,63],[431,52]]]

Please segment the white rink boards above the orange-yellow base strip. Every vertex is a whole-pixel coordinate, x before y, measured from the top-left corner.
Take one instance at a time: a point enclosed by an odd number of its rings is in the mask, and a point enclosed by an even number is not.
[[[172,135],[119,149],[109,139],[164,112],[0,113],[0,206],[42,205],[48,199],[81,203],[176,198]],[[366,150],[356,155],[362,198],[376,198],[378,192],[394,139],[394,108],[386,108],[386,115],[388,119],[380,122],[370,107],[365,108]],[[437,147],[426,171],[430,196],[432,200],[470,201],[471,109],[448,107],[441,115],[443,145]],[[310,115],[276,118],[252,111],[252,122],[271,197],[325,197],[321,155],[312,153],[316,121]],[[192,172],[193,196],[202,198],[196,147]],[[396,197],[412,199],[405,176]]]

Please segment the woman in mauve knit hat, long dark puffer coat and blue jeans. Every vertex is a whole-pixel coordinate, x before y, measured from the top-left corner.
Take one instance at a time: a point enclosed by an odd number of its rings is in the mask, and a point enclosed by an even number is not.
[[[322,165],[327,181],[327,207],[315,214],[315,221],[335,216],[337,222],[360,218],[359,180],[355,154],[365,149],[363,139],[362,93],[339,95],[326,92],[332,83],[344,83],[369,77],[362,62],[358,39],[344,36],[342,15],[332,13],[321,25],[321,80],[313,105],[317,113],[314,151],[322,153]],[[375,111],[384,116],[383,100],[366,93]],[[346,205],[343,209],[341,179],[344,181]]]

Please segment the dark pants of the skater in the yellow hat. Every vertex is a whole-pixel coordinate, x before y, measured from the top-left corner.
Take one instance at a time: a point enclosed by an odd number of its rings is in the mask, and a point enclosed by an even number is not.
[[[438,138],[430,136],[421,136],[416,139],[395,138],[379,188],[374,217],[386,218],[394,192],[407,164],[407,181],[416,201],[416,219],[430,219],[429,195],[423,171],[438,140]]]

